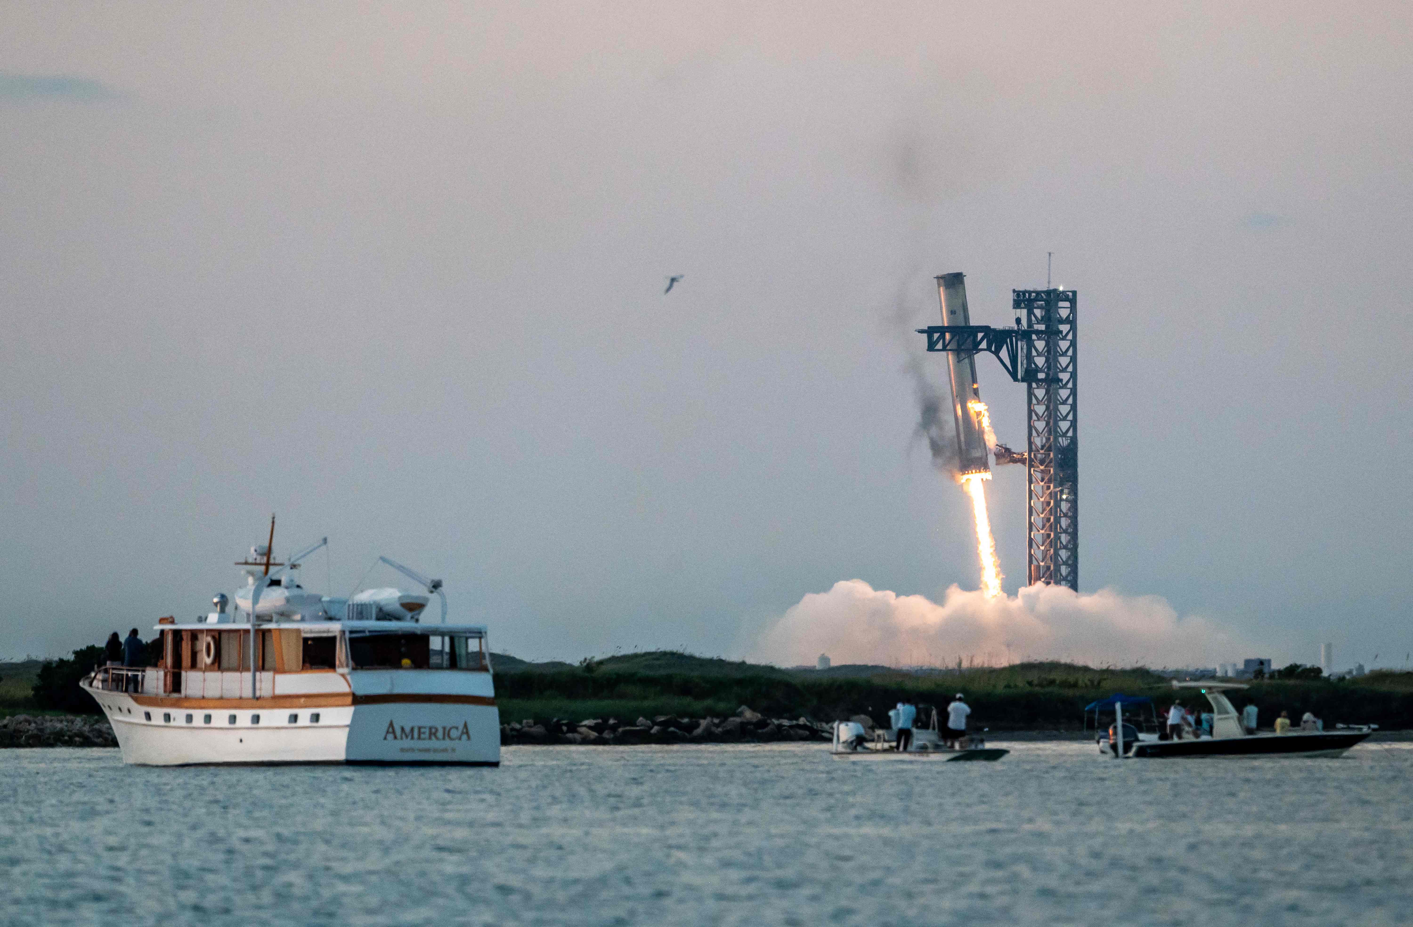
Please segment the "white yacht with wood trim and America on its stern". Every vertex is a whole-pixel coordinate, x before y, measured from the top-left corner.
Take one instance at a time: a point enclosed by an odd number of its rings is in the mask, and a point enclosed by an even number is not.
[[[326,540],[285,564],[253,547],[235,610],[222,594],[203,620],[158,619],[157,667],[99,667],[81,683],[123,762],[500,764],[486,629],[448,625],[441,581],[386,557],[427,595],[305,591],[291,571]],[[431,595],[441,623],[422,620]]]

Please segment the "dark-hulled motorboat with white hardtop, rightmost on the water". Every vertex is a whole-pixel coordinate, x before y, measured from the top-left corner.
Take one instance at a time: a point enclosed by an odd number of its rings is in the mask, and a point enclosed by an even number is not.
[[[1173,683],[1173,688],[1195,688],[1212,707],[1212,733],[1191,740],[1129,740],[1132,725],[1123,721],[1123,705],[1115,705],[1109,728],[1108,756],[1178,759],[1190,756],[1340,756],[1365,740],[1375,725],[1341,726],[1338,731],[1296,731],[1291,733],[1246,733],[1239,715],[1222,692],[1246,688],[1239,683]]]

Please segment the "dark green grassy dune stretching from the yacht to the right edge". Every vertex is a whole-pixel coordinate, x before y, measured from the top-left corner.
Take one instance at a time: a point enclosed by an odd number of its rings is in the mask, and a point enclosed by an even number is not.
[[[504,722],[725,715],[739,705],[771,716],[828,721],[866,714],[883,721],[903,697],[921,707],[941,708],[955,692],[964,692],[978,726],[1078,729],[1084,707],[1113,692],[1149,695],[1161,709],[1176,695],[1169,680],[1142,667],[1065,663],[935,673],[846,666],[815,671],[663,651],[606,657],[577,667],[517,663],[516,668],[507,668],[514,666],[510,660],[496,663],[496,692]],[[1378,673],[1342,683],[1259,683],[1238,692],[1234,701],[1242,707],[1248,698],[1260,711],[1262,726],[1270,726],[1280,711],[1296,719],[1314,711],[1328,726],[1344,722],[1413,728],[1413,674]]]

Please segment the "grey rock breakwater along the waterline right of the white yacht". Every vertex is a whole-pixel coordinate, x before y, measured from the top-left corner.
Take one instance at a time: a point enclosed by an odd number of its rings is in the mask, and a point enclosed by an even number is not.
[[[742,705],[731,718],[678,718],[657,715],[629,724],[608,721],[520,721],[500,726],[500,742],[510,743],[579,743],[593,746],[636,743],[779,743],[788,740],[828,740],[829,725],[808,718],[766,718]]]

